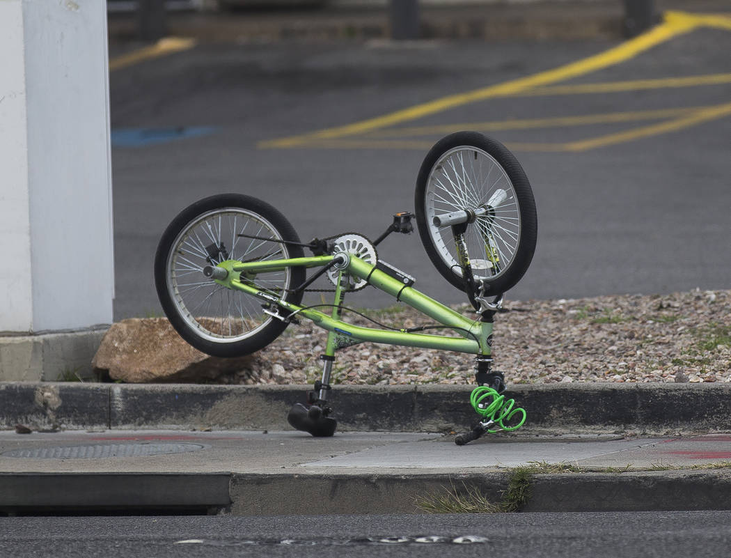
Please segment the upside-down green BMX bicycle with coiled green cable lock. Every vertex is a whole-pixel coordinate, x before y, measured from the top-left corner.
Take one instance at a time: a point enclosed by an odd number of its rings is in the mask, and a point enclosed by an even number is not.
[[[412,276],[379,260],[376,246],[390,233],[412,232],[414,216],[432,263],[466,293],[476,317],[420,293]],[[491,344],[503,293],[526,273],[536,240],[533,193],[518,160],[496,140],[457,132],[439,140],[425,157],[414,214],[395,214],[376,241],[344,233],[303,243],[268,203],[240,194],[214,195],[184,209],[167,227],[154,275],[170,323],[186,342],[210,355],[255,352],[298,320],[327,331],[322,379],[307,403],[296,403],[288,416],[295,429],[313,436],[332,436],[336,430],[327,398],[337,350],[374,342],[474,355],[478,387],[471,404],[481,420],[456,438],[463,445],[485,432],[515,430],[526,419],[523,409],[501,395],[504,374],[492,369]],[[308,269],[315,270],[309,277]],[[303,306],[303,293],[322,276],[333,283],[333,303]],[[342,319],[348,311],[345,295],[368,285],[438,324],[387,329],[347,323]],[[430,329],[451,332],[424,333]]]

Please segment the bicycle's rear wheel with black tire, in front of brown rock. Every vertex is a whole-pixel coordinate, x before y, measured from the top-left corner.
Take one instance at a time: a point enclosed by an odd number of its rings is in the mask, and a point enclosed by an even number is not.
[[[238,237],[240,233],[300,241],[284,215],[268,203],[246,195],[223,194],[183,209],[163,233],[155,255],[155,286],[170,323],[186,342],[213,356],[256,352],[276,339],[287,324],[262,312],[260,299],[205,277],[203,267],[223,260],[304,255],[301,246]],[[304,278],[304,269],[295,267],[258,274],[257,284],[296,304],[302,293],[289,290],[302,284]]]

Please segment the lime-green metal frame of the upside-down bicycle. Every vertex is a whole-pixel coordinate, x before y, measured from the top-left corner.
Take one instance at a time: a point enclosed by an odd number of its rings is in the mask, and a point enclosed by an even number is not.
[[[288,312],[286,316],[274,314],[275,317],[281,320],[289,321],[295,317],[305,317],[319,328],[327,330],[327,348],[325,355],[330,358],[334,357],[337,349],[349,347],[359,342],[450,350],[485,357],[491,355],[491,336],[493,331],[493,323],[491,321],[470,320],[462,314],[444,306],[444,304],[435,301],[433,298],[420,293],[413,287],[405,286],[404,283],[376,268],[375,265],[367,263],[353,255],[349,255],[347,264],[338,274],[333,312],[330,316],[314,308],[282,301],[276,293],[270,293],[265,288],[257,287],[255,279],[247,279],[247,277],[254,278],[257,273],[284,271],[286,268],[293,266],[314,268],[331,265],[336,257],[338,255],[298,257],[287,260],[251,263],[228,260],[219,263],[219,267],[227,271],[226,278],[215,280],[224,287],[248,293]],[[397,301],[406,303],[444,325],[445,328],[454,330],[460,337],[410,333],[406,330],[388,331],[379,328],[361,327],[344,322],[341,320],[341,304],[344,295],[348,291],[344,287],[342,279],[346,275],[366,279],[369,284],[392,295]]]

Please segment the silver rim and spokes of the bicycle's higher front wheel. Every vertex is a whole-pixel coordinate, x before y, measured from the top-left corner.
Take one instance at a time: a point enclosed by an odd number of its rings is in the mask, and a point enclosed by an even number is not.
[[[502,165],[474,146],[442,154],[429,173],[425,215],[429,237],[452,273],[462,276],[450,226],[437,227],[434,216],[488,206],[464,235],[475,279],[493,281],[510,268],[520,245],[520,206],[515,186]]]

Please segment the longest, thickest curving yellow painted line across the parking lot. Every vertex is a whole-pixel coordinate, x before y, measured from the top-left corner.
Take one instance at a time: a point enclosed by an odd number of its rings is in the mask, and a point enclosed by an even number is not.
[[[518,78],[517,80],[510,80],[494,86],[442,97],[441,99],[426,102],[423,105],[416,105],[404,110],[397,110],[394,113],[378,116],[376,118],[369,118],[368,120],[355,122],[354,124],[346,124],[345,126],[323,129],[319,132],[312,132],[305,135],[296,135],[284,137],[278,140],[263,141],[260,142],[258,146],[260,148],[293,147],[306,144],[311,140],[316,139],[333,139],[336,137],[362,134],[363,132],[370,132],[374,129],[393,126],[394,124],[400,124],[401,122],[414,120],[416,118],[422,118],[423,116],[439,113],[443,110],[466,105],[471,102],[490,99],[492,97],[504,97],[506,95],[517,94],[520,91],[526,91],[527,89],[545,86],[550,83],[556,83],[557,81],[575,78],[579,75],[596,72],[596,70],[619,64],[620,62],[632,59],[634,56],[637,56],[637,54],[659,45],[668,39],[676,37],[679,34],[688,33],[689,31],[696,29],[698,25],[699,23],[697,23],[697,20],[695,20],[692,16],[681,12],[672,12],[671,17],[666,17],[664,23],[655,26],[650,31],[647,31],[634,39],[623,42],[621,45],[605,50],[602,53],[589,56],[586,59],[575,61],[545,72],[529,75],[525,78]]]

